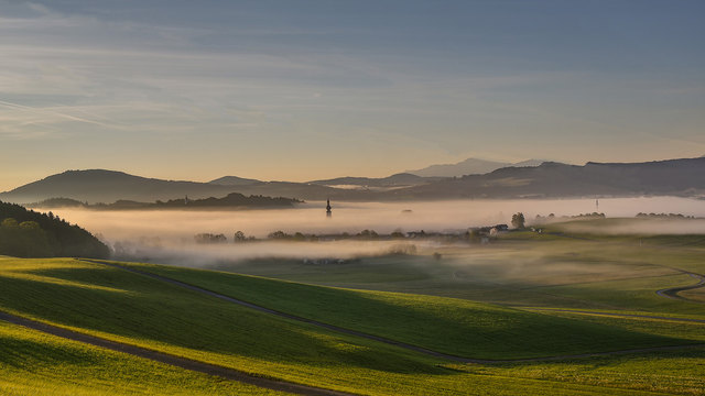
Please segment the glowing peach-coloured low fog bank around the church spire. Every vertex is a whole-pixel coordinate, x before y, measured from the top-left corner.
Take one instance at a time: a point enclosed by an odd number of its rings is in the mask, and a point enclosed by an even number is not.
[[[458,231],[511,222],[511,216],[523,212],[531,224],[536,215],[555,217],[603,212],[608,218],[633,218],[639,212],[674,212],[705,217],[705,200],[657,197],[560,200],[456,200],[434,202],[352,204],[332,202],[333,217],[325,215],[325,202],[308,202],[295,209],[187,211],[134,210],[98,211],[55,209],[54,213],[98,235],[121,258],[173,264],[204,264],[213,261],[253,257],[349,258],[386,254],[399,241],[274,242],[230,243],[236,231],[247,237],[265,238],[274,231],[306,234],[358,233],[375,230]],[[651,228],[651,226],[647,226]],[[615,224],[610,232],[637,232],[633,224]],[[630,231],[631,230],[631,231]],[[639,228],[637,228],[639,230]],[[579,230],[578,230],[579,231]],[[651,229],[646,233],[653,233]],[[705,233],[704,221],[663,223],[659,233]],[[198,233],[224,234],[228,243],[196,244]],[[415,242],[414,242],[415,243]]]

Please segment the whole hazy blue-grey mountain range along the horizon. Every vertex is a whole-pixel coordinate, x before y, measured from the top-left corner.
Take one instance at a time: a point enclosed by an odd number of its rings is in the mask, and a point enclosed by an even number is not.
[[[647,163],[544,162],[509,166],[479,175],[422,177],[408,173],[383,178],[341,177],[308,183],[262,182],[225,176],[209,183],[162,180],[122,172],[67,170],[0,194],[0,200],[36,202],[48,198],[153,202],[185,198],[246,196],[302,200],[389,201],[467,198],[561,198],[684,196],[705,197],[705,157]]]

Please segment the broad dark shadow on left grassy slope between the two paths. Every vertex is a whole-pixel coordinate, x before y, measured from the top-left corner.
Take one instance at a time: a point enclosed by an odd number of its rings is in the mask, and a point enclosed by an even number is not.
[[[202,296],[117,268],[37,270],[72,282],[119,287],[116,294],[3,277],[0,306],[61,326],[283,364],[357,366],[405,374],[443,374],[412,353]],[[154,346],[152,346],[154,348]]]

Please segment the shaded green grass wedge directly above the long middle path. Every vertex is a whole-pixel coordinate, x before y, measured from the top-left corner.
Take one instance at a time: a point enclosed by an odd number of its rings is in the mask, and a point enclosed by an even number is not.
[[[163,265],[147,268],[267,308],[467,358],[538,358],[687,343],[456,298],[321,287]]]

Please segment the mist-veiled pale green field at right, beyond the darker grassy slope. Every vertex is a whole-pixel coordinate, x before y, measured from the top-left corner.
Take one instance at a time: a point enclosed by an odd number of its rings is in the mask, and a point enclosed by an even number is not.
[[[442,258],[433,258],[434,252]],[[705,273],[702,235],[572,234],[547,228],[542,234],[511,232],[489,245],[441,245],[420,250],[414,256],[360,257],[329,265],[261,258],[209,268],[513,307],[631,309],[705,317],[702,304],[655,295],[661,288],[697,282],[681,271]],[[695,289],[683,296],[693,295],[697,300],[702,293]]]

